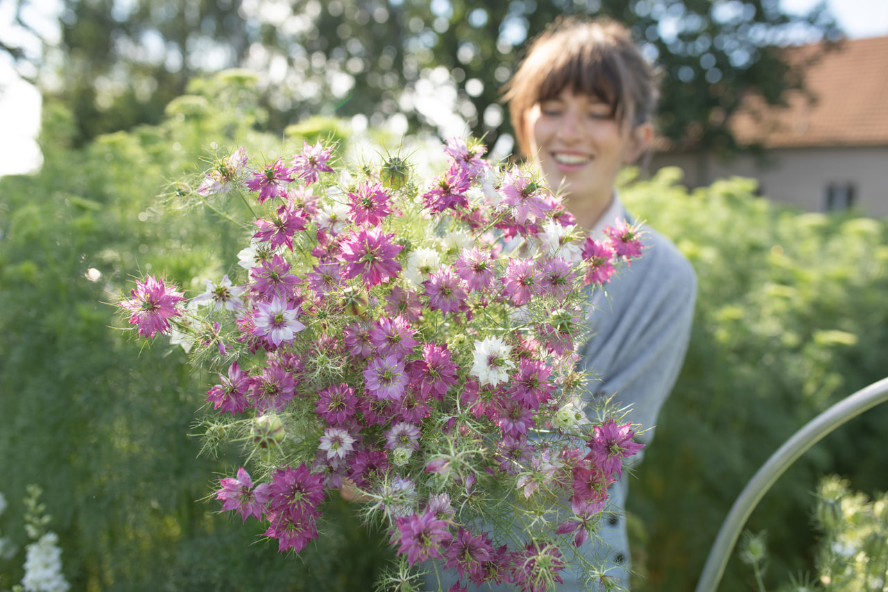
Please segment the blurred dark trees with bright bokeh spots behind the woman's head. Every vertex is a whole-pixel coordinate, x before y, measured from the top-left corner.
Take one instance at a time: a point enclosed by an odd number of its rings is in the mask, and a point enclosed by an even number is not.
[[[779,0],[64,0],[54,39],[34,24],[36,0],[10,4],[44,52],[0,50],[34,77],[44,60],[44,87],[72,106],[81,141],[155,123],[191,76],[242,66],[263,76],[273,130],[366,116],[396,132],[467,123],[493,145],[510,132],[498,99],[520,47],[560,14],[592,14],[626,22],[662,68],[662,134],[730,152],[744,92],[774,103],[804,87],[780,47],[840,35],[825,5],[790,15]]]

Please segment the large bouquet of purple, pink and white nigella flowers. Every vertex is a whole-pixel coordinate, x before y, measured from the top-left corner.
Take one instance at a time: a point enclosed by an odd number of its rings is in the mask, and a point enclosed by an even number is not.
[[[472,141],[448,140],[428,183],[400,152],[350,170],[331,150],[240,148],[180,184],[244,230],[242,270],[191,299],[147,276],[119,303],[219,372],[205,442],[242,444],[250,468],[219,480],[222,509],[298,552],[344,492],[390,533],[400,584],[416,565],[525,590],[568,565],[600,575],[576,548],[640,445],[624,412],[592,411],[574,352],[589,291],[640,254],[638,229],[583,236],[531,172]]]

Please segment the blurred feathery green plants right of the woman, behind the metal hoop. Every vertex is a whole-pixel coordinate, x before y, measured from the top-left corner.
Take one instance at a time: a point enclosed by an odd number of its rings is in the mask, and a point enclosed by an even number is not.
[[[647,531],[645,577],[633,589],[694,589],[718,527],[743,485],[806,421],[884,378],[888,247],[884,222],[800,213],[755,196],[754,181],[689,192],[678,170],[623,195],[670,236],[699,280],[686,364],[664,406],[630,511]],[[767,529],[774,574],[810,570],[805,516],[818,476],[884,489],[886,410],[839,428],[797,461],[751,516]],[[735,557],[736,558],[736,557]],[[720,590],[747,590],[733,560]]]

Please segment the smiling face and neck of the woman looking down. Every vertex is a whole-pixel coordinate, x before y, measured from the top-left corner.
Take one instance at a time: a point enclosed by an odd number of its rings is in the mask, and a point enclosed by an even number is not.
[[[530,156],[549,187],[566,190],[567,210],[591,228],[610,204],[614,180],[638,156],[639,134],[630,131],[598,97],[562,91],[527,114]]]

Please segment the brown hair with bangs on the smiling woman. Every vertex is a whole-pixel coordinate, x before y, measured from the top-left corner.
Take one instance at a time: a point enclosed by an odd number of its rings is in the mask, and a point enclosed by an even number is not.
[[[530,44],[527,57],[503,87],[519,148],[527,154],[527,112],[569,88],[608,103],[621,124],[649,121],[658,76],[632,40],[630,30],[608,19],[555,20]]]

